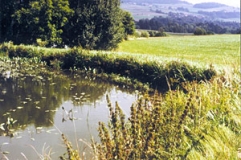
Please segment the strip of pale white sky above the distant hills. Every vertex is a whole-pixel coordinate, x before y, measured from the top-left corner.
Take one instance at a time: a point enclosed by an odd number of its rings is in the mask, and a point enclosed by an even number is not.
[[[226,4],[229,6],[234,6],[234,7],[239,7],[240,8],[240,0],[184,0],[189,3],[202,3],[202,2],[217,2],[217,3],[222,3]]]

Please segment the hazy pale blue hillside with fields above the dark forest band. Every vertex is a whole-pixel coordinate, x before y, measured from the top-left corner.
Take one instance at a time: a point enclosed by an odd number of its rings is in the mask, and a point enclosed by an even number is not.
[[[136,21],[165,17],[171,12],[202,17],[208,21],[240,22],[240,8],[213,2],[191,4],[180,0],[123,0],[121,7],[131,12]]]

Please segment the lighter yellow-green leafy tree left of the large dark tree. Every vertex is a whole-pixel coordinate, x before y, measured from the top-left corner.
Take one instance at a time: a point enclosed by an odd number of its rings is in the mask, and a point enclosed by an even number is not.
[[[27,7],[17,10],[13,15],[14,41],[31,44],[41,39],[47,41],[48,45],[60,45],[62,29],[72,13],[68,0],[30,2]]]

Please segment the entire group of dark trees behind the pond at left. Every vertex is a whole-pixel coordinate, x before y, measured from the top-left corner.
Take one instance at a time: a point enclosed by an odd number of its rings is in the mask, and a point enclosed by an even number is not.
[[[120,0],[1,0],[0,42],[109,50],[134,34]]]

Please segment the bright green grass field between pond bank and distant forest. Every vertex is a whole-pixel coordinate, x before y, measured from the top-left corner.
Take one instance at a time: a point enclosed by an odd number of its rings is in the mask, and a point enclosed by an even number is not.
[[[178,59],[201,65],[236,65],[240,63],[240,35],[134,39],[122,42],[117,51],[153,55],[167,60]]]

